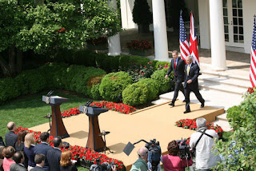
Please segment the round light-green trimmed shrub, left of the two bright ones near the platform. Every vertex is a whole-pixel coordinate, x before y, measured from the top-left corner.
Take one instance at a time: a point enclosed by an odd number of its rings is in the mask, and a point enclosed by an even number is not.
[[[118,101],[118,95],[132,83],[132,78],[126,72],[110,73],[102,78],[99,92],[106,101]]]

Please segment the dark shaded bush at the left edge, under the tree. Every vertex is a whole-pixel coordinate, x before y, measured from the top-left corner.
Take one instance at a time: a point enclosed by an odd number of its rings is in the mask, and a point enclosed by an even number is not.
[[[3,104],[5,101],[21,95],[21,92],[18,91],[19,86],[22,85],[14,82],[14,78],[0,79],[0,104]]]

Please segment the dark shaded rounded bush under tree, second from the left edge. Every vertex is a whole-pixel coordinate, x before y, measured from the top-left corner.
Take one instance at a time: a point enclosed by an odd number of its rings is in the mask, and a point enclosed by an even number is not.
[[[50,84],[39,70],[25,70],[14,78],[14,82],[18,84],[18,91],[22,94],[38,93],[45,88],[46,83]]]

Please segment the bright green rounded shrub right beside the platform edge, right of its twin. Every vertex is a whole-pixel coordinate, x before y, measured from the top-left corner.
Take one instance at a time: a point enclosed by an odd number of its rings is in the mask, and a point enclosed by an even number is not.
[[[142,105],[147,101],[152,101],[158,96],[158,82],[146,78],[132,85],[128,85],[122,92],[122,101],[126,105]]]

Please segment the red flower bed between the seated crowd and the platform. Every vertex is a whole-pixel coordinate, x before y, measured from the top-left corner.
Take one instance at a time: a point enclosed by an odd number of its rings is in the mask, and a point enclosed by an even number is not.
[[[41,134],[40,131],[36,132],[36,131],[29,130],[29,129],[26,129],[26,128],[18,127],[17,130],[15,131],[15,133],[18,133],[21,130],[26,130],[27,133],[34,133],[34,138],[35,138],[36,144],[41,143],[41,140],[39,138],[39,136]],[[54,139],[53,136],[49,137],[49,144],[51,146],[54,146],[53,139]],[[66,150],[66,149],[62,148],[62,151],[64,151],[64,150]],[[114,164],[116,165],[118,170],[119,169],[124,169],[124,165],[123,165],[122,161],[118,161],[117,159],[107,157],[103,153],[95,152],[94,149],[86,149],[85,147],[81,147],[81,146],[78,146],[78,145],[74,145],[74,146],[70,145],[70,148],[68,150],[70,150],[71,153],[72,153],[72,160],[86,161],[87,163],[90,163],[90,164],[96,164],[96,159],[100,158],[101,163],[103,163],[103,162],[109,162],[109,163],[114,162]]]

